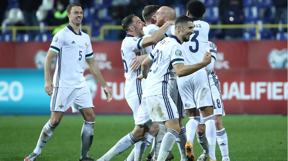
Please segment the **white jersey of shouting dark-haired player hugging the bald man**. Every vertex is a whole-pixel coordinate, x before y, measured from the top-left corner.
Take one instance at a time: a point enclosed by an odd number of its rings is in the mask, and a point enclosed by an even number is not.
[[[142,89],[144,90],[145,88],[145,80],[142,80],[142,82],[137,80],[137,76],[141,74],[141,66],[138,70],[131,70],[131,68],[129,67],[130,64],[134,61],[132,60],[133,57],[147,54],[146,50],[144,50],[142,47],[143,40],[144,38],[139,38],[130,34],[126,34],[126,37],[122,41],[121,56],[125,70],[124,76],[126,78],[124,88],[125,98],[138,95],[141,99]]]

